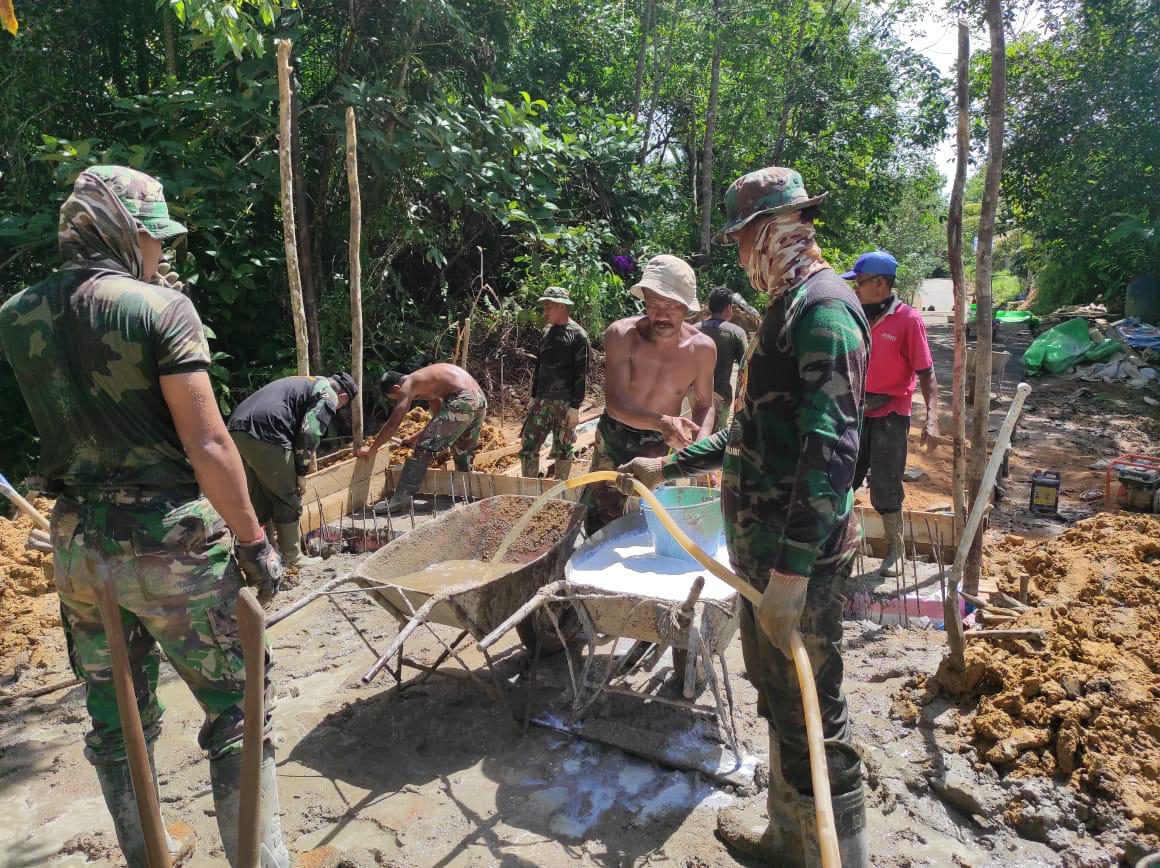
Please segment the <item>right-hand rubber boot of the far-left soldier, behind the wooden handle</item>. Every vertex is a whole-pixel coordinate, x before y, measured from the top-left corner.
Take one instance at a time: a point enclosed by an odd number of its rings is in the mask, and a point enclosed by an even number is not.
[[[282,842],[278,780],[274,747],[262,746],[261,795],[258,806],[258,863],[261,868],[290,868],[290,851]],[[241,809],[241,751],[210,760],[210,787],[217,813],[222,848],[231,866],[238,866],[238,816]]]

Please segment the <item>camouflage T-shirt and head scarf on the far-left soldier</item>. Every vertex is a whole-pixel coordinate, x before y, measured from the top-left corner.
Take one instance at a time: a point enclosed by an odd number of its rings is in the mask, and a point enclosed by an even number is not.
[[[160,383],[209,368],[193,302],[140,280],[133,218],[90,173],[60,209],[59,243],[61,269],[0,308],[39,475],[55,487],[195,484]]]

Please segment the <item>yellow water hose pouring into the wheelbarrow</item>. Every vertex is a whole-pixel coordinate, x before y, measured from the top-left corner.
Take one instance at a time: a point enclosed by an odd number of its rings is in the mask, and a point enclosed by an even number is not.
[[[583,476],[578,476],[563,483],[560,489],[578,489],[589,483],[616,482],[622,473],[615,470],[596,470]],[[632,477],[629,477],[630,479]],[[657,496],[639,479],[632,479],[632,484],[640,494],[640,499],[651,506],[661,523],[668,529],[681,547],[696,558],[697,563],[709,570],[713,576],[737,591],[741,596],[754,606],[761,605],[761,592],[753,585],[723,566],[706,555],[689,535],[676,526],[669,514],[661,506]],[[802,642],[802,634],[797,630],[790,634],[790,651],[793,654],[793,668],[797,671],[798,686],[802,689],[802,709],[805,713],[806,742],[810,745],[810,777],[813,782],[813,808],[814,822],[818,826],[818,844],[821,848],[822,868],[841,868],[842,861],[838,853],[838,827],[834,824],[834,806],[829,801],[829,772],[826,767],[825,736],[821,731],[821,709],[818,707],[818,689],[813,681],[813,667],[810,665],[810,656],[805,651]]]

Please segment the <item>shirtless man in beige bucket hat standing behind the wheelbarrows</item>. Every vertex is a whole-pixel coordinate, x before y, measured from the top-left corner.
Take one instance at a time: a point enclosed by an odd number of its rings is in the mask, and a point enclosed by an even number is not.
[[[629,291],[644,301],[645,314],[604,332],[607,404],[596,426],[593,470],[666,455],[713,429],[717,347],[684,321],[701,310],[693,268],[677,256],[653,256]],[[681,417],[690,389],[691,420]],[[589,485],[582,502],[589,536],[624,512],[624,496],[604,483]]]

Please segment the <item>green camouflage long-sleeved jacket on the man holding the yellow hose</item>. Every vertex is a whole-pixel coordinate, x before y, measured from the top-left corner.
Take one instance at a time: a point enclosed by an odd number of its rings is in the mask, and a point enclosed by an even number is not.
[[[821,574],[853,551],[869,343],[857,298],[819,272],[766,312],[732,426],[668,460],[669,479],[722,469],[725,535],[742,574]]]

